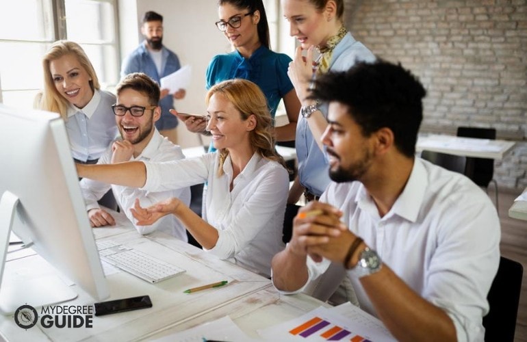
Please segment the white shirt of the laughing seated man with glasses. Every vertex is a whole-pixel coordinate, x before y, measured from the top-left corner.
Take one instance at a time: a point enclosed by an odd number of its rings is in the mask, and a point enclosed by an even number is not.
[[[137,158],[131,157],[130,161],[172,161],[184,159],[185,156],[181,151],[181,148],[175,144],[172,144],[170,140],[163,137],[157,129],[155,129],[154,134],[149,142],[146,145],[142,153],[138,155]],[[109,164],[112,161],[112,146],[107,148],[104,155],[101,156],[98,164]],[[149,192],[143,189],[138,189],[136,187],[123,187],[120,185],[110,185],[106,183],[101,183],[98,181],[93,181],[91,179],[82,179],[80,182],[82,196],[86,202],[86,209],[90,210],[93,208],[99,208],[97,200],[101,199],[103,195],[112,189],[114,196],[118,202],[119,207],[125,212],[127,218],[131,222],[135,222],[135,219],[131,215],[130,209],[133,208],[136,198],[139,198],[139,202],[142,207],[149,207],[155,203],[166,200],[170,197],[177,197],[182,200],[185,205],[190,203],[190,188],[189,187],[179,187],[170,189],[162,192]],[[163,218],[160,218],[152,224],[151,226],[136,226],[137,231],[144,235],[149,234],[155,231],[164,231],[170,235],[177,237],[177,239],[188,241],[187,233],[185,226],[179,222],[179,220],[174,215],[166,215]]]

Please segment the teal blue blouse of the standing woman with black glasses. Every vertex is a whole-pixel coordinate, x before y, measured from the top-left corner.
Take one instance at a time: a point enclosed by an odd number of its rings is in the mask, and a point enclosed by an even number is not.
[[[293,89],[287,76],[289,62],[288,55],[270,51],[263,45],[248,58],[238,51],[216,55],[207,67],[207,90],[226,79],[248,79],[264,92],[274,118],[280,100]]]

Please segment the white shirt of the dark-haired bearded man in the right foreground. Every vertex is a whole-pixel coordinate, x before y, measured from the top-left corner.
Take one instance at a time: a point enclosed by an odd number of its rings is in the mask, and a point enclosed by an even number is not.
[[[350,231],[376,250],[409,287],[446,311],[458,341],[483,341],[487,293],[500,261],[500,220],[477,185],[415,158],[407,185],[383,218],[359,182],[332,182],[320,201],[342,210]],[[329,264],[308,257],[309,280]],[[348,276],[361,308],[376,315],[359,279]]]

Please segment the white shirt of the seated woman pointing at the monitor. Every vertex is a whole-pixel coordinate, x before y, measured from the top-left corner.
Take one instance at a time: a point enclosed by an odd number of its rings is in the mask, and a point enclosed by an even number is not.
[[[279,163],[255,153],[229,191],[233,179],[231,157],[225,159],[224,174],[218,176],[218,156],[207,153],[181,161],[145,163],[144,189],[160,191],[207,181],[203,220],[214,226],[219,235],[216,246],[209,252],[269,276],[272,257],[284,248],[287,171]]]

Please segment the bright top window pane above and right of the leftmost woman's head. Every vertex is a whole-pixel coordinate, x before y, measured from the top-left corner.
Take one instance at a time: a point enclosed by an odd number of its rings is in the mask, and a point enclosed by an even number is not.
[[[102,1],[66,0],[66,31],[74,42],[114,42],[112,4]]]

